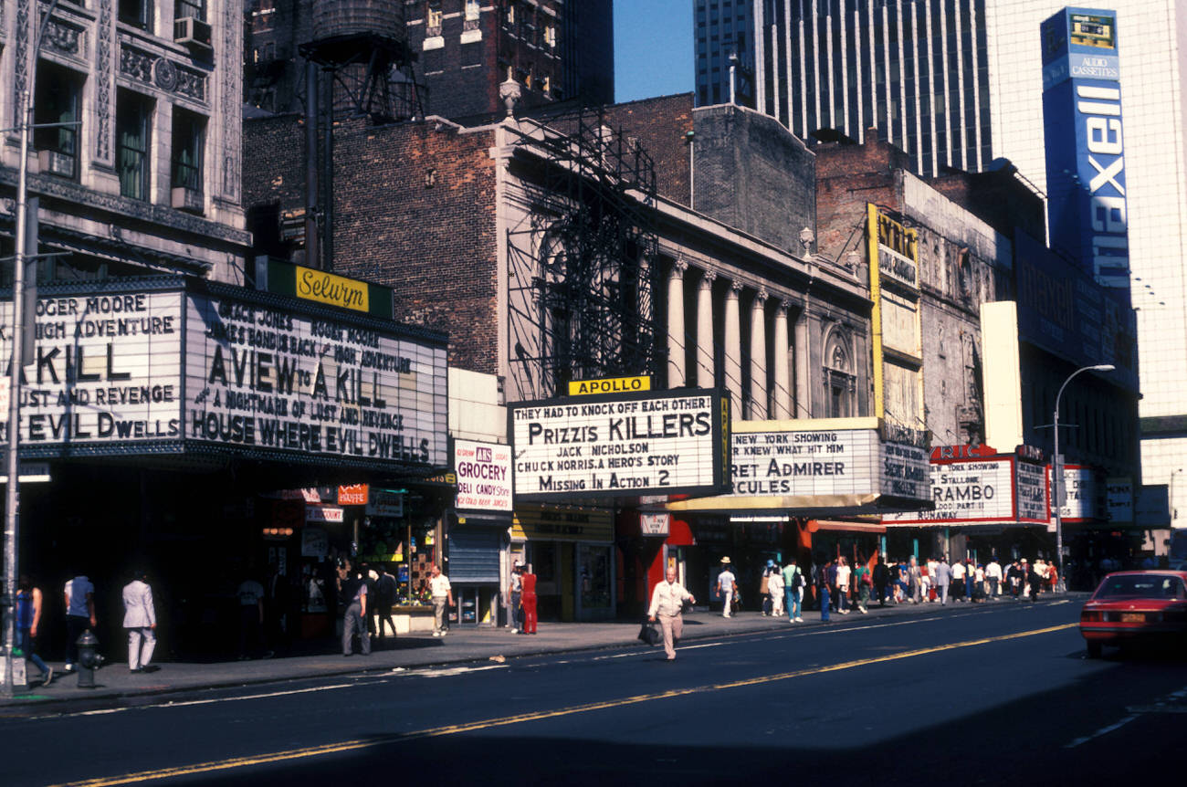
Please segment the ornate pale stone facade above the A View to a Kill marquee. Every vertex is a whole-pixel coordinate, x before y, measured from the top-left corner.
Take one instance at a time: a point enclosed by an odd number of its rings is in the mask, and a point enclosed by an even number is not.
[[[63,0],[34,51],[46,7],[0,6],[0,126],[19,127],[26,90],[42,126],[30,196],[40,199],[40,250],[57,256],[39,278],[179,272],[242,283],[239,4]],[[12,198],[19,135],[5,139],[0,178]]]

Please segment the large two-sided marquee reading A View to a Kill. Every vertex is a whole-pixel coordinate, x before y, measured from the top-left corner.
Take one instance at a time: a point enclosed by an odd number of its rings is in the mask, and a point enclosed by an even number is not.
[[[179,277],[43,287],[20,398],[21,456],[446,464],[444,337]]]

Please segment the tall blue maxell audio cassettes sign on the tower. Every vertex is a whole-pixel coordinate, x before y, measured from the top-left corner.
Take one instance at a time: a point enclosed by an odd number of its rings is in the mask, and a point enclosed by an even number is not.
[[[1117,14],[1064,8],[1042,24],[1042,47],[1052,246],[1128,288]]]

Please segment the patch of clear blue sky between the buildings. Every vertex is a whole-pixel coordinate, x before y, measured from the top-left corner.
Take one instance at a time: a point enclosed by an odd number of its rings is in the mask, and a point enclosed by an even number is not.
[[[615,101],[690,93],[693,0],[614,0]]]

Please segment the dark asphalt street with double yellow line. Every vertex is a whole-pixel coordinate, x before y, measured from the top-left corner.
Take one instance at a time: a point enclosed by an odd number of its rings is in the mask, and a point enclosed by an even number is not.
[[[1187,659],[1085,658],[1079,603],[146,697],[0,721],[5,785],[1116,783],[1181,751]],[[815,615],[815,614],[813,614]],[[1018,781],[1021,779],[1021,781]]]

